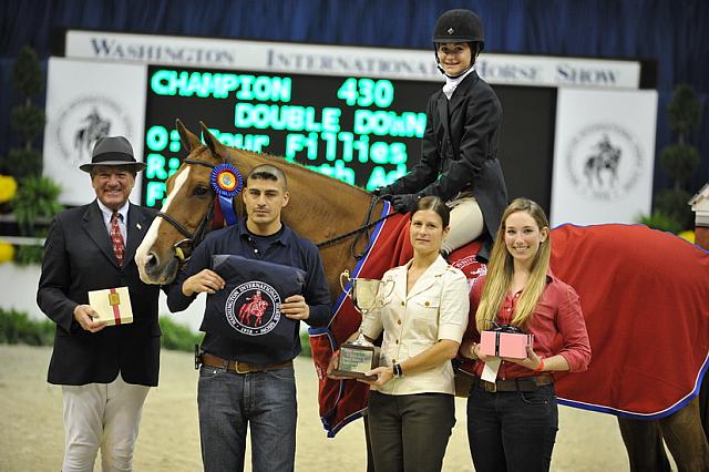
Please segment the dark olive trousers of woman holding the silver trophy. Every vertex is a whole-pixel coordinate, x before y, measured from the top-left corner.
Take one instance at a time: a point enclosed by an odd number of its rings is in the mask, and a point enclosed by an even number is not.
[[[440,471],[455,424],[455,402],[445,393],[372,391],[368,420],[376,471]]]

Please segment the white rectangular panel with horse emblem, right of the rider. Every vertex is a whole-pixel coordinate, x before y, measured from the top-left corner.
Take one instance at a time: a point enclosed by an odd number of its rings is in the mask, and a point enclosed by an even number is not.
[[[636,223],[649,214],[657,92],[562,89],[552,224]]]

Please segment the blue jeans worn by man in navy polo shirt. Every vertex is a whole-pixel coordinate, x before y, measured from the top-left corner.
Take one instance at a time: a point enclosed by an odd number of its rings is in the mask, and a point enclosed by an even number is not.
[[[206,472],[244,470],[249,424],[253,471],[294,470],[297,401],[291,366],[255,373],[202,366],[197,407]]]

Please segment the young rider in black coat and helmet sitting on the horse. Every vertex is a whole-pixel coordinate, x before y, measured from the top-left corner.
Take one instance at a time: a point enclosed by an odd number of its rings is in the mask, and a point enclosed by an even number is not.
[[[433,45],[445,84],[429,99],[421,161],[393,184],[374,191],[401,213],[425,195],[448,202],[451,230],[443,240],[445,255],[485,235],[480,255],[487,258],[507,205],[497,161],[502,106],[474,69],[484,43],[483,23],[474,12],[449,10],[438,19]]]

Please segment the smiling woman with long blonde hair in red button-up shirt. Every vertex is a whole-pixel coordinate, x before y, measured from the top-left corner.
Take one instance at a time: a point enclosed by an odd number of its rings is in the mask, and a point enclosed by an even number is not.
[[[479,472],[547,471],[558,429],[552,372],[583,371],[590,360],[578,295],[549,270],[548,226],[536,203],[512,202],[487,275],[471,290],[461,353],[479,359],[467,399],[467,440]],[[481,352],[480,332],[493,322],[534,335],[526,358]]]

